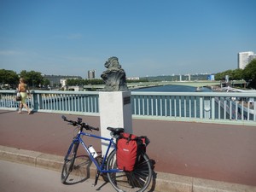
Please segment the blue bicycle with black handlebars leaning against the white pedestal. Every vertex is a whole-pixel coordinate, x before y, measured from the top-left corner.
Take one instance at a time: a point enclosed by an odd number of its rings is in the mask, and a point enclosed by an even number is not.
[[[93,184],[94,186],[96,186],[100,175],[103,176],[104,174],[107,174],[108,181],[112,184],[113,188],[119,192],[143,192],[148,188],[153,176],[153,171],[148,155],[144,151],[139,152],[140,155],[138,156],[138,163],[135,165],[132,172],[125,172],[117,167],[116,144],[114,143],[114,138],[119,137],[119,134],[124,132],[123,128],[108,127],[107,129],[110,131],[111,138],[99,137],[84,131],[99,131],[99,128],[82,122],[81,118],[78,118],[77,121],[73,121],[68,120],[63,115],[62,119],[67,121],[70,125],[77,126],[79,128],[79,132],[75,137],[73,137],[73,142],[70,144],[64,158],[64,164],[61,171],[61,183],[67,183],[67,177],[69,177],[70,173],[73,172],[73,169],[76,168],[75,160],[77,158],[79,143],[81,143],[84,151],[96,166],[97,172],[95,183]],[[90,153],[89,147],[87,147],[82,139],[83,136],[107,141],[106,143],[108,143],[108,148],[106,153],[102,155],[101,160],[96,160],[94,158],[94,154]],[[109,153],[110,148],[113,148],[113,150]]]

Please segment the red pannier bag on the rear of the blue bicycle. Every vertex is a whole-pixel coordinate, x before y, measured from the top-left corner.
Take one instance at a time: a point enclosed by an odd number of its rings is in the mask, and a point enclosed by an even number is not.
[[[147,137],[137,137],[130,133],[121,133],[116,141],[116,158],[118,168],[125,172],[133,171],[134,166],[137,163],[138,156],[141,152],[146,151],[148,143],[149,140]]]

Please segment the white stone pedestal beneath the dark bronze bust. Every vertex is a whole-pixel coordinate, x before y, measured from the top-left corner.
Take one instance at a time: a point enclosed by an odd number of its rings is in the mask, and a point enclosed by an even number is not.
[[[101,135],[110,137],[108,126],[125,128],[132,133],[131,91],[109,91],[99,93],[99,110],[101,118]],[[102,141],[102,155],[106,153],[108,144]]]

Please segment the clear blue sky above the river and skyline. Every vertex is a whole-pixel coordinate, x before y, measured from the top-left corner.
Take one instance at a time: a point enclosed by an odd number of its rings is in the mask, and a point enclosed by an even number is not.
[[[256,0],[0,0],[0,69],[100,78],[219,73],[256,52]]]

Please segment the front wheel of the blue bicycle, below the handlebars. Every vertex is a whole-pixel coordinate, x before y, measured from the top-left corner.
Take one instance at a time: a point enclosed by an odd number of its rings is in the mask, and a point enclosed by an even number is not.
[[[74,142],[70,146],[70,150],[67,150],[67,154],[64,159],[64,163],[62,166],[62,171],[61,171],[61,183],[67,183],[67,177],[69,176],[70,172],[73,171],[73,165],[74,161],[77,156],[77,151],[79,148],[79,142]]]

